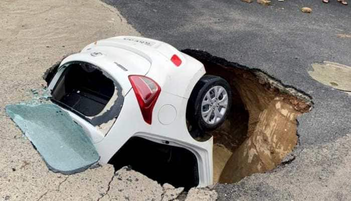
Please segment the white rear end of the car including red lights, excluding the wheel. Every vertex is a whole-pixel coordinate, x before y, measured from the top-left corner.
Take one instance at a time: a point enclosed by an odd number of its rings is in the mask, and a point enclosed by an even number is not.
[[[190,151],[197,160],[197,184],[205,186],[213,179],[213,140],[193,139],[185,115],[191,91],[204,74],[199,61],[166,43],[121,36],[65,58],[49,89],[54,102],[90,136],[100,162],[110,161],[132,137],[141,137]]]

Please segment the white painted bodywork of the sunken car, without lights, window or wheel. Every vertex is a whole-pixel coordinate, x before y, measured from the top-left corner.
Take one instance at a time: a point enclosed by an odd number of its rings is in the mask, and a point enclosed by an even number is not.
[[[92,53],[96,52],[102,55],[92,56]],[[170,61],[174,54],[182,60],[180,66],[175,66]],[[162,144],[168,141],[169,145],[186,148],[195,154],[198,160],[199,186],[213,183],[213,138],[205,142],[196,141],[186,125],[188,98],[195,84],[206,73],[201,62],[166,43],[130,36],[119,36],[89,44],[80,53],[65,58],[61,66],[71,61],[84,61],[98,66],[122,87],[123,107],[107,135],[78,115],[64,109],[89,135],[101,156],[101,163],[107,163],[133,136]],[[117,66],[115,62],[122,67]],[[49,89],[54,88],[62,72],[63,68],[59,68]],[[146,75],[161,87],[152,111],[151,125],[145,123],[135,93],[131,90],[128,75],[133,74]],[[162,120],[159,118],[167,113],[164,106],[171,106],[166,108],[175,111],[170,113],[173,115],[171,118]]]

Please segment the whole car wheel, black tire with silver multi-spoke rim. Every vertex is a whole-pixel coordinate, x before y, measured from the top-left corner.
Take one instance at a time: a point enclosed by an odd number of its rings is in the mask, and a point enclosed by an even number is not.
[[[218,76],[205,75],[195,85],[187,107],[187,119],[200,131],[222,125],[232,105],[229,83]]]

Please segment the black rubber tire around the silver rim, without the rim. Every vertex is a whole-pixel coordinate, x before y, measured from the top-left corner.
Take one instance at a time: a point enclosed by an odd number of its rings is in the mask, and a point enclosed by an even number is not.
[[[220,117],[220,120],[218,120],[218,118],[216,118],[217,121],[214,121],[213,124],[207,123],[204,119],[207,119],[207,117],[203,117],[203,109],[205,109],[204,112],[206,111],[210,111],[211,107],[213,107],[213,105],[216,105],[217,108],[215,108],[215,110],[221,110],[223,106],[219,106],[219,104],[217,104],[218,102],[221,102],[224,99],[220,99],[220,96],[215,102],[215,103],[211,103],[211,106],[208,104],[208,106],[202,106],[203,102],[207,102],[209,99],[205,98],[206,94],[209,92],[211,92],[210,90],[216,90],[214,88],[221,86],[226,90],[227,93],[227,99],[228,99],[228,104],[227,104],[227,108],[225,110],[224,114],[222,117]],[[222,89],[222,88],[221,88]],[[223,92],[224,93],[224,92]],[[225,95],[222,95],[222,97],[224,97]],[[211,96],[212,97],[212,96]],[[216,97],[216,96],[214,96]],[[205,99],[204,99],[205,98]],[[211,102],[213,101],[213,99],[210,100]],[[230,88],[229,83],[218,76],[214,76],[214,75],[205,75],[203,76],[198,83],[195,85],[192,94],[190,95],[189,101],[188,101],[188,106],[187,106],[187,120],[189,121],[189,123],[192,125],[192,127],[195,127],[194,129],[199,129],[200,131],[206,132],[206,131],[211,131],[214,130],[218,127],[220,127],[224,120],[226,119],[226,117],[228,116],[228,113],[230,111],[230,108],[232,106],[232,91]],[[210,110],[206,110],[208,107]],[[213,109],[212,109],[213,110]],[[213,110],[214,111],[214,110]],[[216,112],[218,112],[216,111]],[[215,112],[210,112],[211,115],[215,115]],[[217,113],[218,114],[218,113]],[[214,116],[213,119],[215,119]],[[209,117],[211,119],[211,117]]]

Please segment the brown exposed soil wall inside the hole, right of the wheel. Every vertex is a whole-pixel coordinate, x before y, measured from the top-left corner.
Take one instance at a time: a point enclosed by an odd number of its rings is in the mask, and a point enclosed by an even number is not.
[[[231,85],[233,106],[214,136],[214,182],[233,183],[272,170],[297,145],[296,117],[312,108],[311,97],[258,69],[199,50],[183,52],[200,60],[208,74]]]

